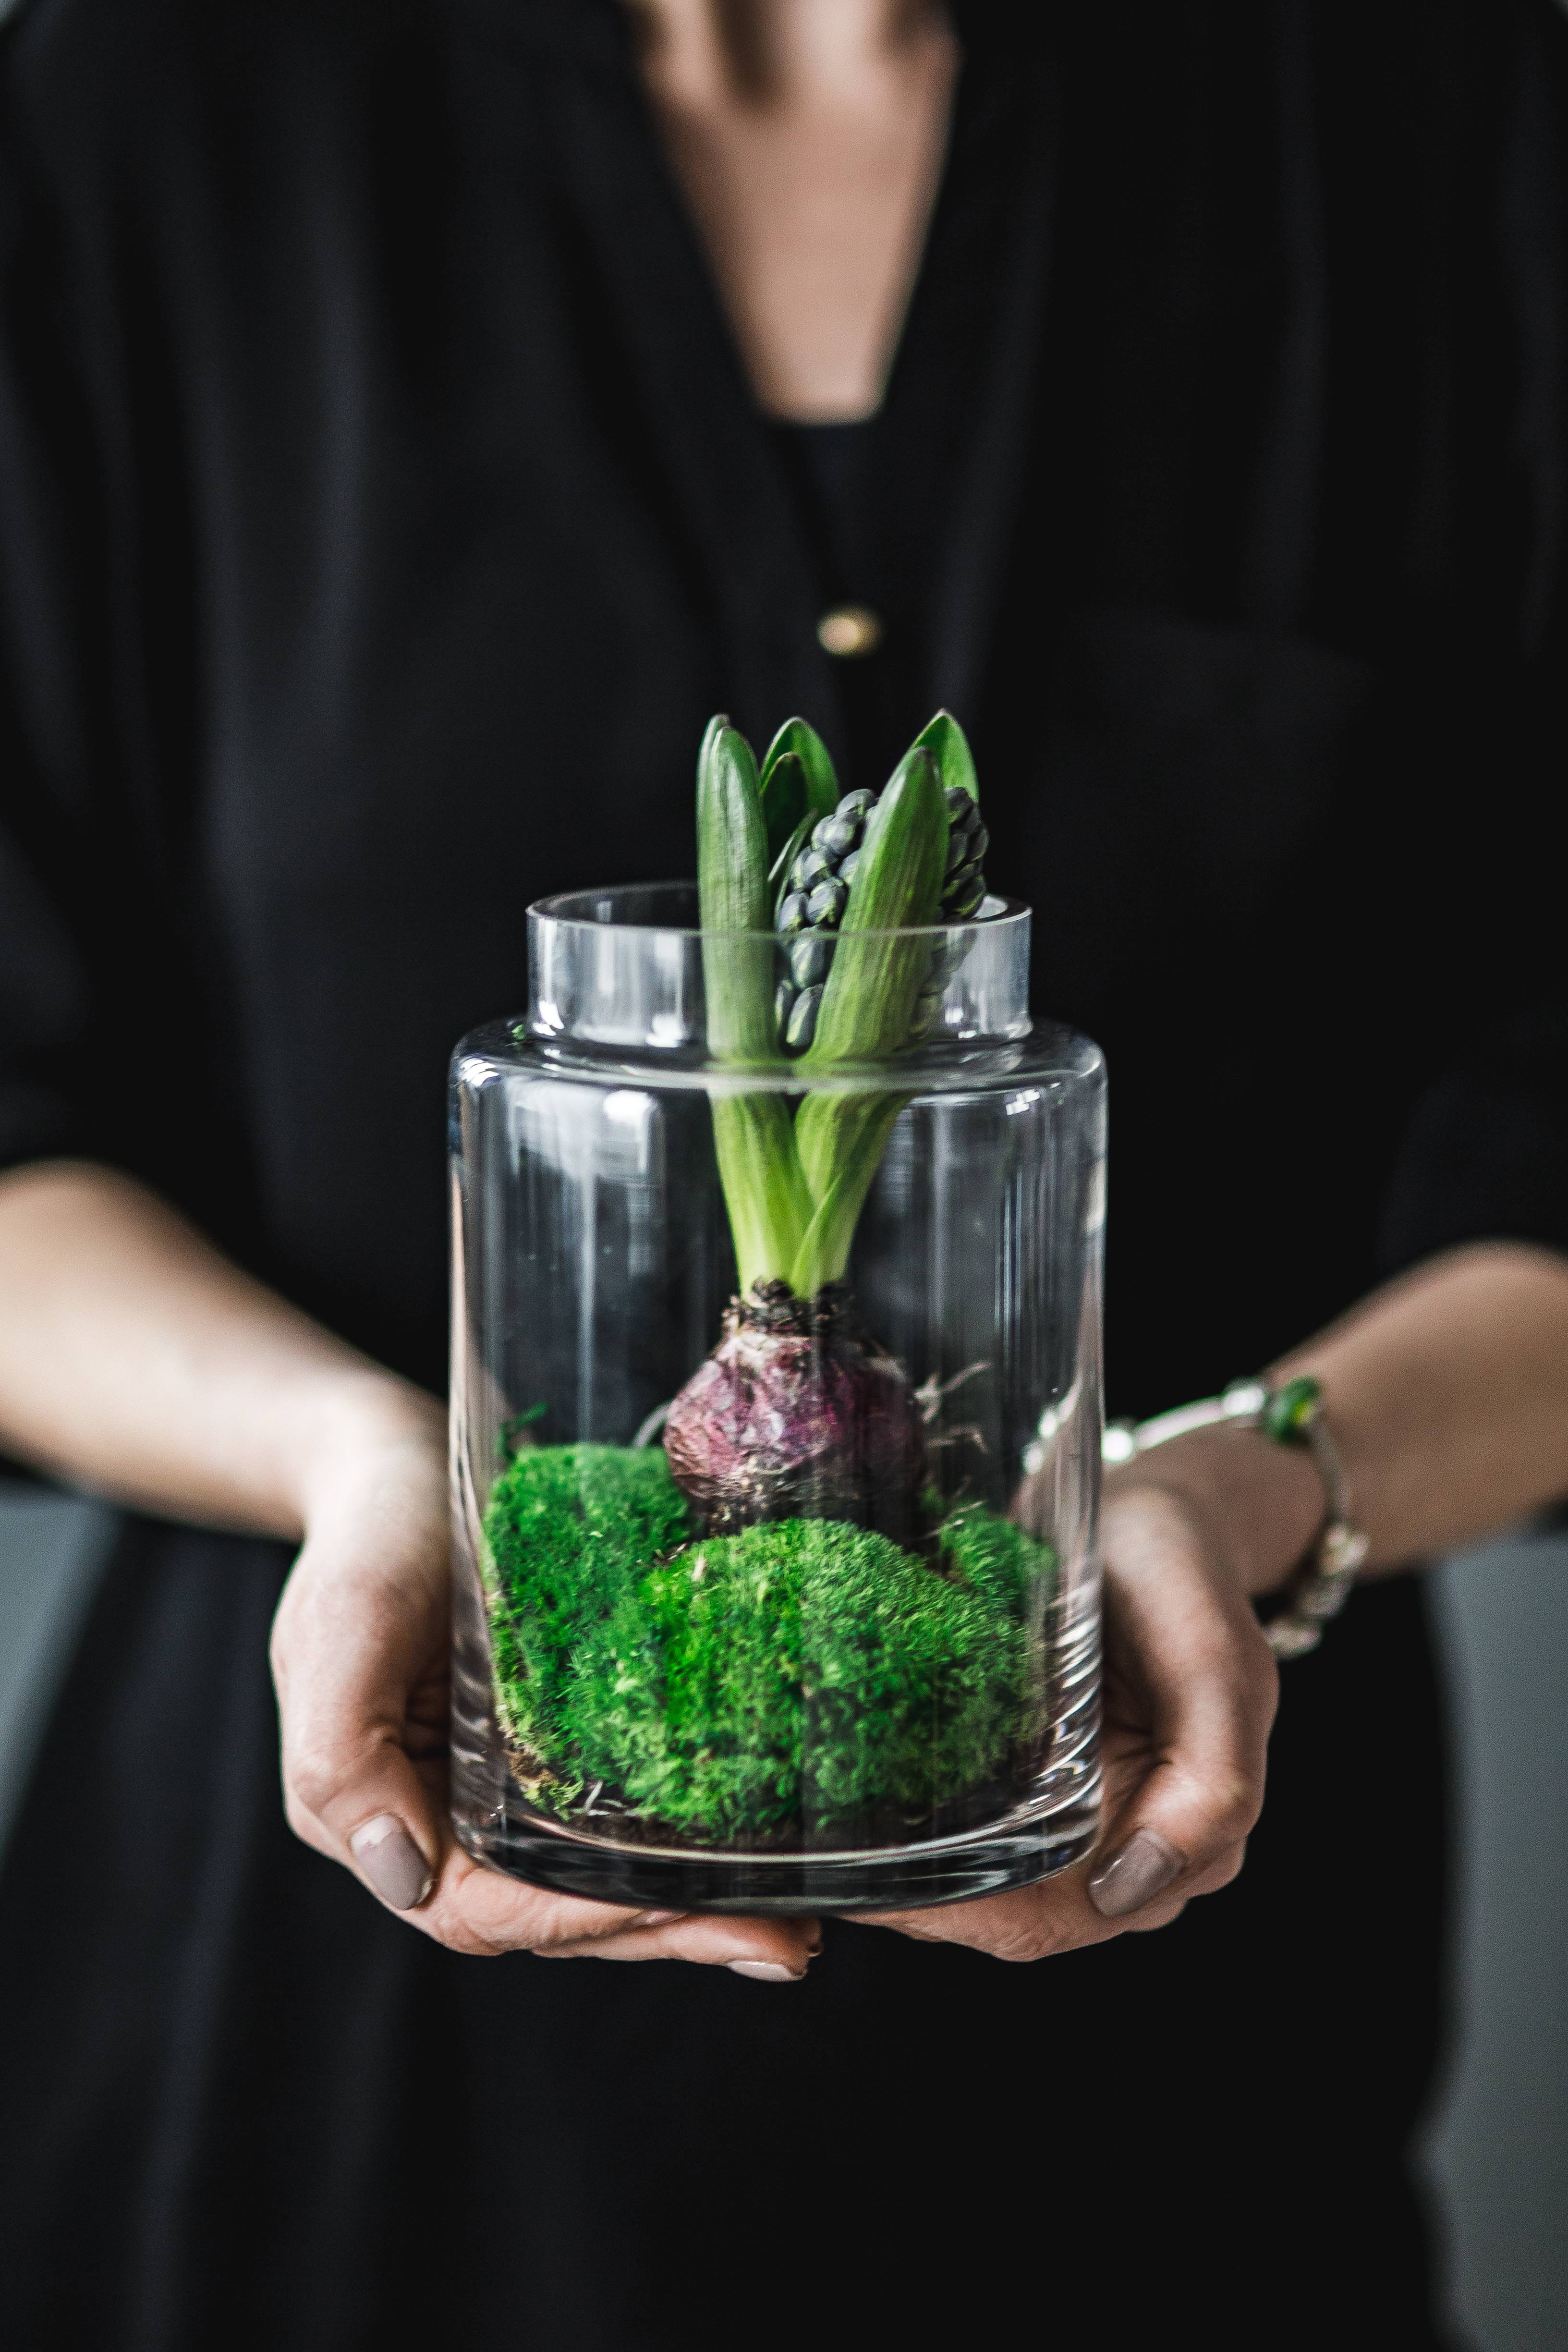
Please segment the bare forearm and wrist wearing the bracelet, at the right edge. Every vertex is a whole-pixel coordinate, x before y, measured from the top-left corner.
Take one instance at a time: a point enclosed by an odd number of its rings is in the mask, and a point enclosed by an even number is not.
[[[1284,1357],[1309,1371],[1371,1538],[1363,1576],[1509,1526],[1568,1494],[1568,1261],[1488,1242],[1387,1284]],[[1121,1482],[1180,1494],[1251,1592],[1276,1588],[1324,1512],[1309,1456],[1215,1430]]]

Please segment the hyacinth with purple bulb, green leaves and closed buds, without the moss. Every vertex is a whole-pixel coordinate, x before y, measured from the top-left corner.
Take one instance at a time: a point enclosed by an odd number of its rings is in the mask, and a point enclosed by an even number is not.
[[[973,757],[945,710],[879,795],[839,797],[804,720],[778,731],[762,771],[729,720],[703,739],[710,1051],[771,1073],[785,1054],[802,1087],[797,1103],[743,1082],[712,1098],[741,1287],[724,1338],[670,1409],[665,1454],[715,1534],[792,1512],[900,1543],[919,1534],[922,1411],[903,1367],[858,1329],[844,1270],[907,1101],[889,1089],[889,1063],[931,1028],[933,995],[940,1004],[945,943],[931,927],[985,898],[976,828]]]

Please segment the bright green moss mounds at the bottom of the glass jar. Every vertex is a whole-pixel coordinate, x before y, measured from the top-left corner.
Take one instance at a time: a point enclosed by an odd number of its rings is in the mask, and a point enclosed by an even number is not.
[[[505,1729],[545,1769],[708,1844],[929,1820],[1006,1769],[1051,1552],[971,1505],[936,1562],[837,1519],[696,1541],[663,1451],[522,1451],[487,1510]]]

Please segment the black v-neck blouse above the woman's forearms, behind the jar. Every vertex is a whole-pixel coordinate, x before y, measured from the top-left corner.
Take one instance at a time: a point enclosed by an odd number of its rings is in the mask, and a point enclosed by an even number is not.
[[[527,903],[689,868],[710,708],[844,748],[621,14],[7,33],[0,1150],[139,1169],[433,1383],[442,1068]],[[1112,1063],[1138,1409],[1568,1240],[1563,28],[959,14],[863,757],[973,727],[1037,1000]]]

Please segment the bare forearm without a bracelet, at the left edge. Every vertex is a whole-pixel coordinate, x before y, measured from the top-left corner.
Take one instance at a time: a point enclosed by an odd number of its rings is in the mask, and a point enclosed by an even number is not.
[[[299,1536],[343,1449],[435,1399],[223,1258],[146,1188],[0,1178],[0,1449],[115,1501]]]

